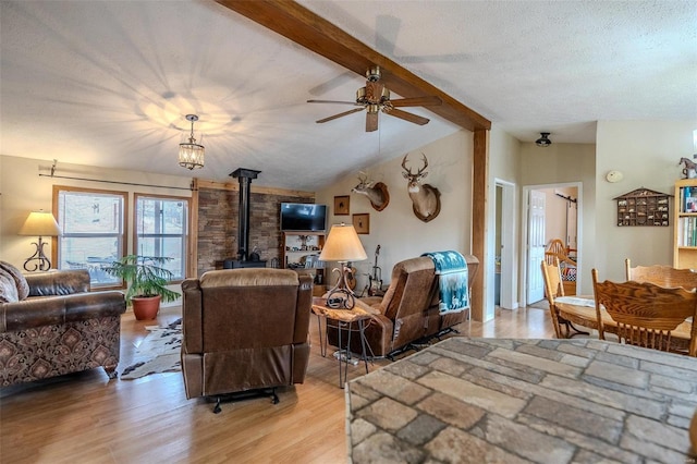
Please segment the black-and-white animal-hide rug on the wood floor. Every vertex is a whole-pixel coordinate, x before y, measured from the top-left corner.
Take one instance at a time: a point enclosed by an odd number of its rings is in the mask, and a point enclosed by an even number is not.
[[[182,321],[167,327],[149,326],[150,332],[135,351],[136,362],[123,369],[122,380],[133,380],[150,374],[182,370]]]

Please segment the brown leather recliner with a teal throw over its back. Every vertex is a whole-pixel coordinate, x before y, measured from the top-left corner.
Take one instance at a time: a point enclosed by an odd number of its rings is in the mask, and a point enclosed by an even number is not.
[[[468,284],[477,276],[479,260],[465,255]],[[379,314],[371,316],[365,328],[366,341],[376,357],[389,357],[405,351],[414,343],[438,337],[469,318],[469,310],[443,316],[438,309],[438,279],[431,258],[421,256],[405,259],[392,268],[392,280],[384,296],[369,296],[360,301]],[[338,346],[339,332],[335,321],[327,320],[328,343]],[[345,340],[345,335],[343,338]],[[360,353],[360,340],[351,338],[351,351]]]

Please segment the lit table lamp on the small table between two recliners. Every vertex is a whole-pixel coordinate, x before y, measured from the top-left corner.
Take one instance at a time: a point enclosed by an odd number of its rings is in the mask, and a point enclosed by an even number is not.
[[[322,252],[319,254],[322,261],[338,261],[341,268],[332,269],[339,272],[337,284],[327,293],[327,306],[330,308],[351,309],[355,304],[355,295],[348,285],[348,261],[362,261],[368,259],[366,251],[360,244],[358,234],[353,225],[344,223],[332,225]]]

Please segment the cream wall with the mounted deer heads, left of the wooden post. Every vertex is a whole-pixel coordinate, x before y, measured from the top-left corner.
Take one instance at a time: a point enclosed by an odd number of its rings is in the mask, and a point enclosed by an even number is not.
[[[413,171],[420,166],[421,152],[428,158],[428,175],[424,182],[441,193],[440,215],[429,222],[419,220],[412,210],[401,167],[407,154],[394,154],[389,161],[363,169],[372,180],[388,186],[390,204],[382,211],[376,211],[366,196],[351,193],[358,183],[358,172],[317,192],[317,203],[329,205],[329,224],[351,223],[355,213],[370,215],[370,233],[358,235],[368,259],[353,264],[358,271],[356,291],[365,288],[371,273],[377,245],[380,245],[378,266],[386,284],[392,267],[403,259],[444,249],[470,253],[473,134],[460,131],[411,150],[407,162]],[[334,215],[333,198],[342,195],[350,196],[350,216]]]

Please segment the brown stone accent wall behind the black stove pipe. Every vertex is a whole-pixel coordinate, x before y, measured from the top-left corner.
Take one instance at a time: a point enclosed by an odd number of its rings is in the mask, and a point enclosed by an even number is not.
[[[237,191],[198,190],[198,267],[200,277],[216,269],[216,261],[237,257]],[[281,203],[314,203],[307,196],[255,193],[249,195],[249,253],[257,247],[261,259],[281,265]]]

